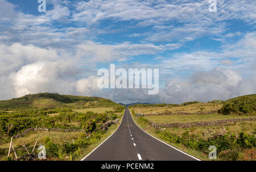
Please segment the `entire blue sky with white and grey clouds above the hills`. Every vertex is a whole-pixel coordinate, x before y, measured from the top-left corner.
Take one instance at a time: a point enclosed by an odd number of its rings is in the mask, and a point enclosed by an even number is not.
[[[0,0],[0,100],[57,92],[181,103],[256,93],[256,1]],[[159,68],[159,93],[98,89],[97,71]]]

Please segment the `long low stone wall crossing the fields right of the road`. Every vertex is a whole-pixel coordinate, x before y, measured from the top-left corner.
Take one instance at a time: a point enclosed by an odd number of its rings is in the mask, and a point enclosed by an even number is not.
[[[222,126],[227,123],[236,123],[241,121],[255,121],[256,118],[242,118],[242,119],[221,119],[217,121],[200,121],[200,122],[185,122],[185,123],[154,123],[150,122],[150,125],[154,128],[191,128],[191,127],[207,127],[207,126]]]

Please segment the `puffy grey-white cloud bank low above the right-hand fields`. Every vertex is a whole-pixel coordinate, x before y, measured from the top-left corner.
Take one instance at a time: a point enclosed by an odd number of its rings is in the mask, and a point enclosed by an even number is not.
[[[227,100],[232,97],[253,94],[256,77],[242,79],[237,72],[226,68],[213,68],[210,71],[196,72],[190,81],[172,80],[164,88],[163,100],[180,103],[184,101]],[[247,83],[247,84],[245,84]]]

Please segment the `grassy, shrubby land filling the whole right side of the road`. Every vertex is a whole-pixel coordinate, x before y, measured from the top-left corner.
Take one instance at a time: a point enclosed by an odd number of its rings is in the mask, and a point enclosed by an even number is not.
[[[189,102],[172,107],[170,105],[154,108],[132,106],[130,110],[135,122],[143,130],[201,160],[209,160],[209,147],[214,145],[217,148],[217,160],[255,161],[255,120],[189,128],[152,126],[152,122],[161,124],[254,118],[255,96],[254,94],[205,104]],[[212,113],[213,110],[217,112]]]

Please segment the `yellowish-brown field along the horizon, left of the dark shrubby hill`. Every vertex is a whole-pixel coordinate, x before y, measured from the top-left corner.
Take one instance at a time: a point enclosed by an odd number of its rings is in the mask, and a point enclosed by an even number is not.
[[[148,107],[148,108],[133,108],[135,113],[158,114],[158,113],[210,113],[221,109],[222,104],[191,104],[187,106],[164,106],[164,107]],[[201,110],[203,108],[203,110]]]

